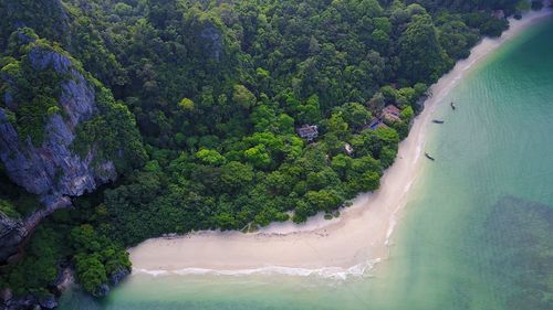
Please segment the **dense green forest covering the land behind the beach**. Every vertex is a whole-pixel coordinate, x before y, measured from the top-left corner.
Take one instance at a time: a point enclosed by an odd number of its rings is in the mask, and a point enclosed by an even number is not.
[[[119,177],[41,224],[25,257],[0,269],[0,287],[46,293],[59,267],[74,266],[83,288],[101,296],[129,267],[125,246],[145,238],[337,216],[378,189],[428,86],[529,6],[1,0],[0,75],[29,86],[23,108],[9,115],[18,133],[40,145],[45,119],[59,113],[55,81],[64,77],[25,65],[29,44],[42,44],[94,81],[106,113],[77,128],[74,148],[98,146],[117,158]],[[133,120],[119,126],[122,118]],[[30,214],[36,197],[4,170],[0,212]]]

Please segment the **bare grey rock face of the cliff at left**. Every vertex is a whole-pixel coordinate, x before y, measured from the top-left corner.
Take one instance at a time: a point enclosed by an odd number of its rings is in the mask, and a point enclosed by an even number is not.
[[[65,55],[34,47],[29,53],[29,61],[36,71],[53,67],[70,78],[60,85],[59,106],[63,109],[63,117],[60,114],[50,116],[41,146],[34,146],[29,137],[19,137],[8,120],[7,108],[0,107],[0,160],[6,173],[28,192],[40,195],[45,206],[24,220],[21,228],[6,218],[0,221],[0,232],[4,232],[0,234],[0,261],[9,257],[7,254],[13,249],[11,245],[21,242],[43,217],[71,205],[67,196],[92,192],[117,177],[112,161],[97,162],[94,148],[83,157],[71,148],[76,127],[97,113],[94,86]],[[10,84],[9,76],[2,78]]]

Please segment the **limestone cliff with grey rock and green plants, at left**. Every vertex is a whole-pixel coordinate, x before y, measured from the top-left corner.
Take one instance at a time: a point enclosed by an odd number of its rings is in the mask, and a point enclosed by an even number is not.
[[[0,160],[43,206],[21,221],[0,214],[0,261],[71,196],[115,180],[116,165],[144,152],[128,110],[67,53],[28,29],[12,40],[19,49],[0,71]]]

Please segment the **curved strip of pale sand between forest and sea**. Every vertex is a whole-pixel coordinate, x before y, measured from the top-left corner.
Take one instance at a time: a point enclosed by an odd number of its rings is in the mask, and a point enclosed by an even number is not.
[[[249,275],[280,272],[317,274],[344,278],[362,275],[374,263],[388,256],[388,240],[396,216],[408,201],[409,189],[419,174],[424,159],[427,124],[439,103],[484,55],[513,38],[551,10],[530,12],[500,39],[484,39],[470,57],[437,84],[434,96],[416,118],[409,137],[399,145],[396,162],[382,179],[378,191],[362,194],[337,220],[322,215],[305,224],[272,224],[255,234],[199,232],[173,239],[154,238],[131,248],[134,272]]]

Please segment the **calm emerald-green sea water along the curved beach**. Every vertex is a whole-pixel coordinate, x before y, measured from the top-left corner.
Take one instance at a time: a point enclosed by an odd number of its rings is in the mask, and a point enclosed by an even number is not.
[[[553,309],[553,20],[473,66],[428,124],[389,259],[347,280],[133,275],[61,309]],[[452,111],[449,101],[457,103]]]

